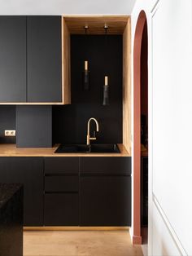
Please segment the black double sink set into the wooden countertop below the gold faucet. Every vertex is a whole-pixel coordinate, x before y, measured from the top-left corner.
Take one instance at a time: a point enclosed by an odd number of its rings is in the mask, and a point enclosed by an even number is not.
[[[55,153],[120,153],[117,144],[61,144]]]

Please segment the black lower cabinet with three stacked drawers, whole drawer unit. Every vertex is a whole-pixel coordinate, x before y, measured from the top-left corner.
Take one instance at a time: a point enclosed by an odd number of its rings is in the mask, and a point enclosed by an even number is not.
[[[45,157],[45,226],[79,226],[79,157]]]

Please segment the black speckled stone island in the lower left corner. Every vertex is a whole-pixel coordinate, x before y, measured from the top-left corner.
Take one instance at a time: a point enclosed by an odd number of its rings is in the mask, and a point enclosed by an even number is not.
[[[0,256],[23,255],[23,186],[0,183]]]

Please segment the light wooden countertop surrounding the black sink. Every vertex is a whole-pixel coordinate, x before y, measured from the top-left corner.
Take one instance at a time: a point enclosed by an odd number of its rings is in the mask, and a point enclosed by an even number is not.
[[[0,157],[130,157],[123,144],[118,144],[120,153],[55,153],[53,148],[16,148],[15,144],[0,144]]]

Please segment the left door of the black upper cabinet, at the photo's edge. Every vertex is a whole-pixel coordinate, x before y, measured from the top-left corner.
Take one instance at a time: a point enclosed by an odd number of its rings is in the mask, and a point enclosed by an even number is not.
[[[0,102],[26,102],[26,16],[0,16]]]

